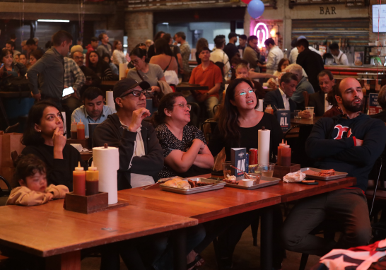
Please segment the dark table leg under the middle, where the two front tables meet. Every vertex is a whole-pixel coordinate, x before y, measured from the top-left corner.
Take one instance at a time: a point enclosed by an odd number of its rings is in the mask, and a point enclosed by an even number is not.
[[[174,269],[187,269],[187,235],[185,228],[172,231]]]

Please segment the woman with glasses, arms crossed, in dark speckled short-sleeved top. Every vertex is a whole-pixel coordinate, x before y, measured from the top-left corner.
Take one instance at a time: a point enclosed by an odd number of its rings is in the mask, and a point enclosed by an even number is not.
[[[160,100],[154,114],[157,138],[165,158],[158,177],[192,177],[211,172],[214,158],[202,131],[188,126],[190,105],[181,93],[169,93]]]

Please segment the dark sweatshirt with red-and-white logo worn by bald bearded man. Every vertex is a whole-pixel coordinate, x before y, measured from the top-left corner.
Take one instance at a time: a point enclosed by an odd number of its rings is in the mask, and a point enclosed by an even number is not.
[[[364,192],[368,186],[368,174],[386,144],[386,126],[379,119],[359,115],[346,119],[342,115],[324,117],[316,122],[305,142],[305,152],[317,158],[315,166],[348,172],[356,177],[356,185]],[[355,138],[363,140],[356,146]]]

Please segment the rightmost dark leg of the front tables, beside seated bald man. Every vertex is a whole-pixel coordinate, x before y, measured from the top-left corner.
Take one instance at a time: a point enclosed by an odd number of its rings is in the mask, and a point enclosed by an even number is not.
[[[260,269],[272,270],[272,250],[273,250],[273,210],[272,207],[263,209],[262,229],[260,230]]]

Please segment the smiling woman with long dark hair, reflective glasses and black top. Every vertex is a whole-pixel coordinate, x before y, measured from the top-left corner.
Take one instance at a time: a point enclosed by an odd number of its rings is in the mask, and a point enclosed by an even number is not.
[[[258,147],[258,130],[265,127],[271,131],[269,160],[276,161],[277,147],[283,138],[283,131],[274,115],[255,110],[259,106],[255,89],[250,80],[237,78],[226,90],[220,119],[209,142],[212,155],[217,155],[223,147],[226,160],[230,160],[230,148]]]

